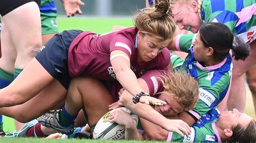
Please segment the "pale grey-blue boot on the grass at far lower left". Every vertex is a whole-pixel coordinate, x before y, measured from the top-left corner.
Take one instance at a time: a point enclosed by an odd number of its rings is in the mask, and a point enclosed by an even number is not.
[[[28,123],[25,123],[21,130],[18,130],[18,131],[15,130],[14,132],[9,132],[8,134],[6,134],[6,136],[4,136],[4,138],[26,137],[28,130],[34,125],[36,125],[36,123],[38,123],[36,119]]]

